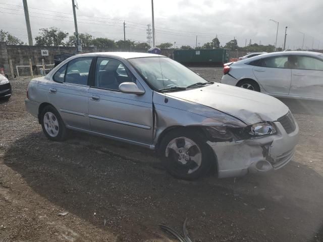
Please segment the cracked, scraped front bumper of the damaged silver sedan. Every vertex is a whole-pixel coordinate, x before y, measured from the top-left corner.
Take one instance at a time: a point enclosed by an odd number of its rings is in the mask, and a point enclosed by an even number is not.
[[[274,124],[277,128],[275,135],[236,142],[208,141],[217,157],[218,177],[267,172],[286,165],[295,153],[298,125],[295,122],[295,130],[287,134],[280,122]]]

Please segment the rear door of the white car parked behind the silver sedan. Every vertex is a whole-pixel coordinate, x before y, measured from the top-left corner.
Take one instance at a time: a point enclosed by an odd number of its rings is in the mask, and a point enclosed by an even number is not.
[[[288,95],[292,70],[285,68],[287,55],[270,56],[249,63],[258,83],[268,93]]]

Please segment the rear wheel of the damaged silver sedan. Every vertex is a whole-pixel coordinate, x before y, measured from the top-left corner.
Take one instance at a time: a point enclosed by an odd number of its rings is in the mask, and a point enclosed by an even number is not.
[[[46,106],[40,113],[41,128],[47,139],[64,141],[66,127],[59,112],[52,106]]]

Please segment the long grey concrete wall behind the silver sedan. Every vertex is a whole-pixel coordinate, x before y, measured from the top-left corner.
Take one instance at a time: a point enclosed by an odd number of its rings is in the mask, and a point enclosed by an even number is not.
[[[48,56],[41,56],[41,50],[48,50]],[[130,49],[119,48],[98,48],[89,47],[83,48],[83,53],[91,52],[109,52],[109,51],[130,51]],[[132,52],[147,52],[147,49],[132,49]],[[0,68],[5,68],[6,74],[10,76],[9,60],[12,60],[14,73],[17,75],[16,66],[29,65],[29,59],[31,59],[32,65],[41,65],[41,59],[44,59],[45,64],[54,63],[54,55],[62,52],[76,53],[75,47],[50,47],[50,46],[28,46],[28,45],[6,45],[4,42],[0,42]],[[161,54],[171,57],[173,55],[172,49],[162,49]],[[35,68],[35,67],[34,67]],[[34,70],[34,74],[39,73],[39,67]],[[19,68],[20,76],[30,75],[30,68]]]

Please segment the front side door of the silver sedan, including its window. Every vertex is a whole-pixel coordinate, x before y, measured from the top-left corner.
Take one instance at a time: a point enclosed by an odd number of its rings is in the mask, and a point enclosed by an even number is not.
[[[141,144],[152,143],[152,91],[122,93],[119,85],[140,82],[114,58],[97,57],[94,83],[89,89],[89,120],[93,132]]]

